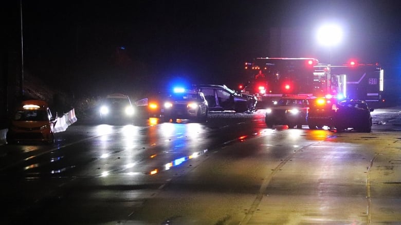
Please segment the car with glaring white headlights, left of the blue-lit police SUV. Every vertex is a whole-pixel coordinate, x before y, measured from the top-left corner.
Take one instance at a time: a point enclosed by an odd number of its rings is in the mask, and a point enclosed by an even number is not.
[[[102,100],[99,108],[101,122],[116,123],[130,122],[134,120],[134,107],[131,99],[124,94],[110,94]]]

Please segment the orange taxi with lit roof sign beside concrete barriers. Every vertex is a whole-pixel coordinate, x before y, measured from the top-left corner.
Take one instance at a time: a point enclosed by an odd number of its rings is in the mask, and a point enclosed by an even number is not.
[[[39,140],[52,144],[56,122],[46,101],[22,101],[11,119],[6,136],[7,142],[12,144],[19,141]]]

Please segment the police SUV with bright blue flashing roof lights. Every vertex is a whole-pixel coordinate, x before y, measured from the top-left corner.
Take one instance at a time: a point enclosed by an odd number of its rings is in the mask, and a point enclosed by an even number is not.
[[[177,119],[196,119],[206,122],[208,118],[208,102],[202,92],[175,88],[162,109],[165,121],[176,122]]]

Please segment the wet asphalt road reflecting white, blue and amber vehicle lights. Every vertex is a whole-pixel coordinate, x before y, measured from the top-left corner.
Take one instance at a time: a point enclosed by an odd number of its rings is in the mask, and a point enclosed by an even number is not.
[[[0,146],[1,223],[397,224],[400,113],[372,114],[368,134],[266,129],[263,111],[77,122],[53,146]]]

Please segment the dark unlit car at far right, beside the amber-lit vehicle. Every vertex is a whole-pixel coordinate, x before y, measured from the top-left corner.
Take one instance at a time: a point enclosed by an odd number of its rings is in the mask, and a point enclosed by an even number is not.
[[[366,101],[344,100],[337,104],[334,116],[334,126],[337,131],[353,128],[358,132],[370,133],[372,131],[373,108],[369,108]]]

